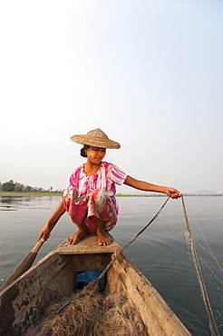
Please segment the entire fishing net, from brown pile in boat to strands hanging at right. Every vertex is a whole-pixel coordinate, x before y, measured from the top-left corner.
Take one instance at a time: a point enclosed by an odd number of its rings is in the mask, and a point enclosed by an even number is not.
[[[168,199],[169,200],[169,199]],[[168,201],[167,200],[167,201]],[[163,209],[162,205],[160,211]],[[182,198],[184,217],[186,220],[187,232],[179,230],[186,234],[187,243],[189,246],[189,255],[191,261],[194,263],[197,278],[199,281],[199,287],[201,296],[204,302],[205,309],[208,314],[208,324],[210,329],[210,334],[213,336],[218,336],[220,328],[222,328],[222,311],[217,309],[217,317],[214,316],[210,301],[208,298],[207,287],[201,272],[201,263],[204,263],[204,259],[198,250],[199,242],[196,242],[193,238],[192,232],[190,230],[189,219],[185,207],[184,200]],[[134,240],[150,225],[160,214],[160,211],[152,218],[152,220],[139,232]],[[130,244],[129,242],[121,252],[124,251]],[[200,245],[200,244],[199,244]],[[201,246],[201,245],[200,245]],[[203,250],[203,246],[201,246]],[[208,249],[208,254],[218,263],[213,252]],[[206,250],[207,252],[207,250]],[[118,255],[117,255],[118,256]],[[116,256],[116,258],[117,258]],[[115,259],[116,259],[115,258]],[[115,260],[114,259],[114,260]],[[111,261],[114,262],[114,260]],[[104,270],[106,272],[111,266],[111,263]],[[207,265],[207,262],[205,262]],[[222,267],[218,263],[220,272],[222,272]],[[211,283],[217,283],[218,286],[215,292],[220,291],[222,282],[218,279],[215,272],[208,267],[211,272]],[[104,273],[103,272],[103,273]],[[99,277],[100,278],[100,277]],[[213,278],[217,279],[213,281]],[[36,335],[80,335],[80,336],[103,336],[103,335],[123,335],[123,336],[134,336],[134,335],[148,335],[146,328],[141,321],[141,316],[139,312],[134,308],[131,300],[126,298],[121,293],[113,293],[108,297],[104,297],[103,294],[95,289],[94,285],[87,286],[81,292],[73,294],[73,297],[67,301],[67,298],[56,298],[56,294],[50,293],[50,300],[47,299],[47,295],[44,294],[44,299],[48,302],[53,301],[47,310],[39,308],[39,315],[36,317],[37,324],[35,328],[29,329],[26,335],[36,336]],[[46,306],[46,301],[43,301],[43,307]],[[42,311],[42,312],[41,312]],[[44,316],[44,319],[40,320],[39,316]],[[217,324],[218,322],[218,324]]]

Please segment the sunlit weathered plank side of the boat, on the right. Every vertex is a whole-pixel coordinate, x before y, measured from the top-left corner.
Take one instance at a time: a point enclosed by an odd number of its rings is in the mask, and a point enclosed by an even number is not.
[[[124,292],[131,299],[150,335],[190,335],[159,292],[123,253],[113,262],[108,282],[111,292]]]

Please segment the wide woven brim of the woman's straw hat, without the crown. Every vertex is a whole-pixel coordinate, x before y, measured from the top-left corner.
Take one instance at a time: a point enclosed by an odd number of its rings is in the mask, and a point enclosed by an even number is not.
[[[101,148],[118,149],[121,147],[120,143],[116,143],[113,140],[103,139],[96,136],[73,135],[71,137],[71,140],[74,141],[74,143],[87,144],[89,146],[101,147]]]

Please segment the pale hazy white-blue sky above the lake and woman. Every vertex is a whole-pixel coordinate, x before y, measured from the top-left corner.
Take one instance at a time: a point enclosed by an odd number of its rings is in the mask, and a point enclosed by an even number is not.
[[[101,128],[132,177],[223,193],[222,32],[222,0],[0,0],[1,183],[63,190]]]

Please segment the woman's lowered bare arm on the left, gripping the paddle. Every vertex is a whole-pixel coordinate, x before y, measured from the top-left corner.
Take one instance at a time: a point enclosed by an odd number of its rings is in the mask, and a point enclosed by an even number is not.
[[[41,239],[42,241],[47,241],[47,239],[50,237],[50,232],[52,232],[53,227],[55,224],[59,221],[63,213],[65,212],[63,201],[58,204],[57,208],[53,212],[53,215],[48,219],[48,221],[44,224],[43,229],[38,235],[37,242],[39,242]]]

